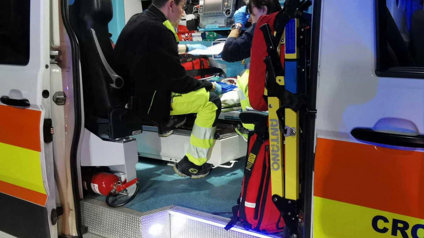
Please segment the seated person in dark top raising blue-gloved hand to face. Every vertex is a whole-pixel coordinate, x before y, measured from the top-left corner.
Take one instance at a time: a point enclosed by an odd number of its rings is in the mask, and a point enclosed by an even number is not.
[[[246,6],[239,8],[234,13],[235,24],[232,26],[231,32],[225,41],[224,48],[221,53],[222,59],[227,62],[236,62],[250,57],[253,32],[259,17],[280,10],[281,5],[278,0],[248,0]],[[249,27],[242,36],[240,36],[241,30],[247,21],[250,21],[252,26]],[[246,110],[246,107],[250,107],[247,88],[248,78],[249,70],[247,69],[243,75],[237,79],[240,104],[243,111]],[[243,137],[243,140],[247,142],[248,130],[253,129],[253,124],[243,123],[242,125],[237,126],[236,131]]]

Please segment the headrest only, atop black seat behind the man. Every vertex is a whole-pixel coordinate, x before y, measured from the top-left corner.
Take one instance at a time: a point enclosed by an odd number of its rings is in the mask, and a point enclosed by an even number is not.
[[[81,14],[97,24],[108,24],[113,17],[112,1],[84,0],[84,4],[81,4]]]

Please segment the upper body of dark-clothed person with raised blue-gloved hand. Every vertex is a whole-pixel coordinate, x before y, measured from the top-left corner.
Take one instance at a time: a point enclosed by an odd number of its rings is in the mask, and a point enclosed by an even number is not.
[[[278,0],[248,0],[246,6],[239,8],[234,13],[235,24],[232,25],[231,32],[225,41],[221,53],[222,59],[227,62],[236,62],[250,57],[253,32],[259,17],[280,10],[281,5]],[[252,26],[240,36],[241,30],[248,20]]]

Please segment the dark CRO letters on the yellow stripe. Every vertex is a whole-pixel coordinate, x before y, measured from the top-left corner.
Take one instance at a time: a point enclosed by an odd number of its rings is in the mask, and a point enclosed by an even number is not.
[[[424,232],[424,224],[414,224],[411,225],[404,220],[392,219],[391,226],[390,221],[385,216],[374,216],[372,219],[372,228],[378,233],[388,233],[391,230],[391,235],[398,236],[402,235],[402,238],[422,238],[422,234]],[[410,235],[408,236],[407,231],[410,229]],[[418,236],[418,232],[421,230],[420,235]]]

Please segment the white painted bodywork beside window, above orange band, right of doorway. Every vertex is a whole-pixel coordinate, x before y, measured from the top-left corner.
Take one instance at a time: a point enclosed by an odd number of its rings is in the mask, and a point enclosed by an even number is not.
[[[375,75],[374,1],[323,1],[317,91],[318,137],[358,142],[354,127],[402,118],[424,134],[424,79]]]

